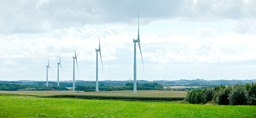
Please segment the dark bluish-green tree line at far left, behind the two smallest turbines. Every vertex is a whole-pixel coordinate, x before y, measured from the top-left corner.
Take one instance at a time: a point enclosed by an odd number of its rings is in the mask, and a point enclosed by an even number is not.
[[[26,84],[0,84],[1,91],[67,91],[62,86],[26,85]]]

